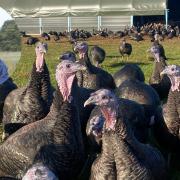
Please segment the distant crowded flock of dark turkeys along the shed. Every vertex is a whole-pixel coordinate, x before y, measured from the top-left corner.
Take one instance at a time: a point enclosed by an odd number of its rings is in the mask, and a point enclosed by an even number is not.
[[[27,35],[25,31],[20,32],[22,37],[27,37],[25,44],[33,45],[40,41],[37,37]],[[70,32],[57,32],[49,31],[43,32],[41,38],[44,41],[61,42],[63,37],[68,38],[70,43],[77,41],[86,41],[91,37],[101,38],[123,38],[128,37],[133,41],[140,42],[144,40],[144,36],[148,36],[152,40],[164,41],[165,38],[173,39],[175,37],[180,38],[180,27],[177,25],[168,25],[162,23],[147,23],[142,26],[126,26],[124,30],[113,32],[110,29],[104,28],[100,30],[92,29],[92,32],[83,29],[72,29]],[[123,55],[120,51],[120,54]]]

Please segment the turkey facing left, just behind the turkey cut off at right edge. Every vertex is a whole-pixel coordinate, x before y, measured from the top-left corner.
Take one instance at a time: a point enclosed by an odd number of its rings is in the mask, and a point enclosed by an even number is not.
[[[171,86],[167,75],[161,77],[160,73],[165,69],[167,63],[164,53],[161,53],[159,45],[151,47],[151,53],[154,56],[154,67],[149,84],[156,90],[161,100],[167,98]]]

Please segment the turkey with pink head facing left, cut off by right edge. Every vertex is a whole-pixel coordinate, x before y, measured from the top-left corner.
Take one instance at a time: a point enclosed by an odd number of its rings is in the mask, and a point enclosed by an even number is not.
[[[169,132],[180,138],[180,66],[166,66],[161,72],[161,75],[164,74],[167,74],[171,81],[171,89],[165,107],[164,120]]]

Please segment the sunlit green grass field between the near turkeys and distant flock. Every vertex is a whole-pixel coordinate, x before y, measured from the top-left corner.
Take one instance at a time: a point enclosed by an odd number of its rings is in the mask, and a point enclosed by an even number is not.
[[[25,39],[22,40],[24,42]],[[138,64],[146,78],[146,82],[148,82],[150,74],[152,72],[152,61],[147,60],[147,49],[151,46],[151,42],[148,38],[142,42],[134,42],[128,40],[133,46],[133,52],[130,56],[129,60],[127,61],[126,58],[124,60],[121,59],[118,51],[118,45],[120,39],[90,39],[88,40],[88,44],[90,47],[92,45],[99,45],[106,51],[106,59],[102,65],[102,67],[114,74],[117,70],[119,70],[124,64],[126,63],[136,63]],[[55,85],[55,68],[56,65],[59,63],[59,55],[62,54],[64,51],[72,50],[72,45],[67,41],[67,39],[63,39],[60,43],[55,42],[47,42],[48,43],[48,53],[46,55],[46,63],[48,65],[51,81],[53,85]],[[16,69],[13,72],[13,68],[10,70],[12,73],[12,78],[14,79],[15,83],[21,87],[27,84],[29,79],[29,74],[32,68],[32,64],[35,60],[35,46],[27,46],[22,43],[22,52],[21,58],[16,65]],[[166,56],[168,57],[168,64],[178,64],[180,65],[180,39],[173,39],[173,40],[165,40],[162,42]],[[1,54],[0,54],[1,57]],[[9,63],[9,62],[7,62]],[[10,63],[9,66],[13,66]],[[14,66],[13,66],[14,67]],[[0,128],[1,130],[1,128]],[[1,132],[0,132],[1,136]],[[180,180],[180,174],[173,172],[173,180]]]

